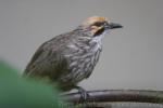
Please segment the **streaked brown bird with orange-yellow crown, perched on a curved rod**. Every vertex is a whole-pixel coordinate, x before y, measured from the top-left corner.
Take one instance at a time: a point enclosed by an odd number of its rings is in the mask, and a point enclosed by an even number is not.
[[[42,43],[24,75],[48,78],[63,92],[79,87],[78,83],[90,77],[99,60],[105,33],[122,27],[103,16],[88,17],[75,29]]]

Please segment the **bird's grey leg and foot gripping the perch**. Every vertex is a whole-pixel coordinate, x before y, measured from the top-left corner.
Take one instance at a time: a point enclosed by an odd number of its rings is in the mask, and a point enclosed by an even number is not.
[[[75,89],[77,89],[78,92],[80,93],[82,100],[86,100],[89,97],[88,92],[84,90],[82,86],[75,86]]]

